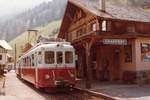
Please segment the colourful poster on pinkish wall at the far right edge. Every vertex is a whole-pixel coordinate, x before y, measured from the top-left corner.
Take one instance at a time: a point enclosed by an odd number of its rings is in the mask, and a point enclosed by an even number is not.
[[[141,44],[141,60],[144,62],[150,61],[150,44]]]

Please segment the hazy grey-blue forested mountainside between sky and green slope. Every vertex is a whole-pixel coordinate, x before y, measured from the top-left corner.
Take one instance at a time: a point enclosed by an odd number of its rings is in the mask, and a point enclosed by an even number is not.
[[[66,3],[67,0],[53,0],[53,2],[42,3],[8,21],[0,23],[1,39],[10,41],[28,29],[45,26],[51,21],[61,19]]]

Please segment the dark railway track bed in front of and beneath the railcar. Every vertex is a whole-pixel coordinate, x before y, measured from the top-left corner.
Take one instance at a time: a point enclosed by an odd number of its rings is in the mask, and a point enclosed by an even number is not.
[[[73,88],[72,90],[63,90],[61,92],[38,90],[33,84],[27,81],[22,81],[24,84],[35,90],[36,92],[43,94],[48,100],[105,100],[103,97],[92,95],[88,92]]]

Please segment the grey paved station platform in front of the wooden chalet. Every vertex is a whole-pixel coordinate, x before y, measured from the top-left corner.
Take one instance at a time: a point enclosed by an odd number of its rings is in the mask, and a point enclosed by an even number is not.
[[[123,84],[114,82],[93,81],[92,88],[86,89],[85,81],[78,80],[76,88],[103,97],[104,100],[149,100],[149,84]]]

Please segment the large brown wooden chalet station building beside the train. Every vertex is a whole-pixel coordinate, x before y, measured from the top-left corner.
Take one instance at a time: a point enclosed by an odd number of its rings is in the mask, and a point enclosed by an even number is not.
[[[78,77],[91,80],[150,80],[150,13],[105,0],[68,0],[59,38],[77,54]]]

